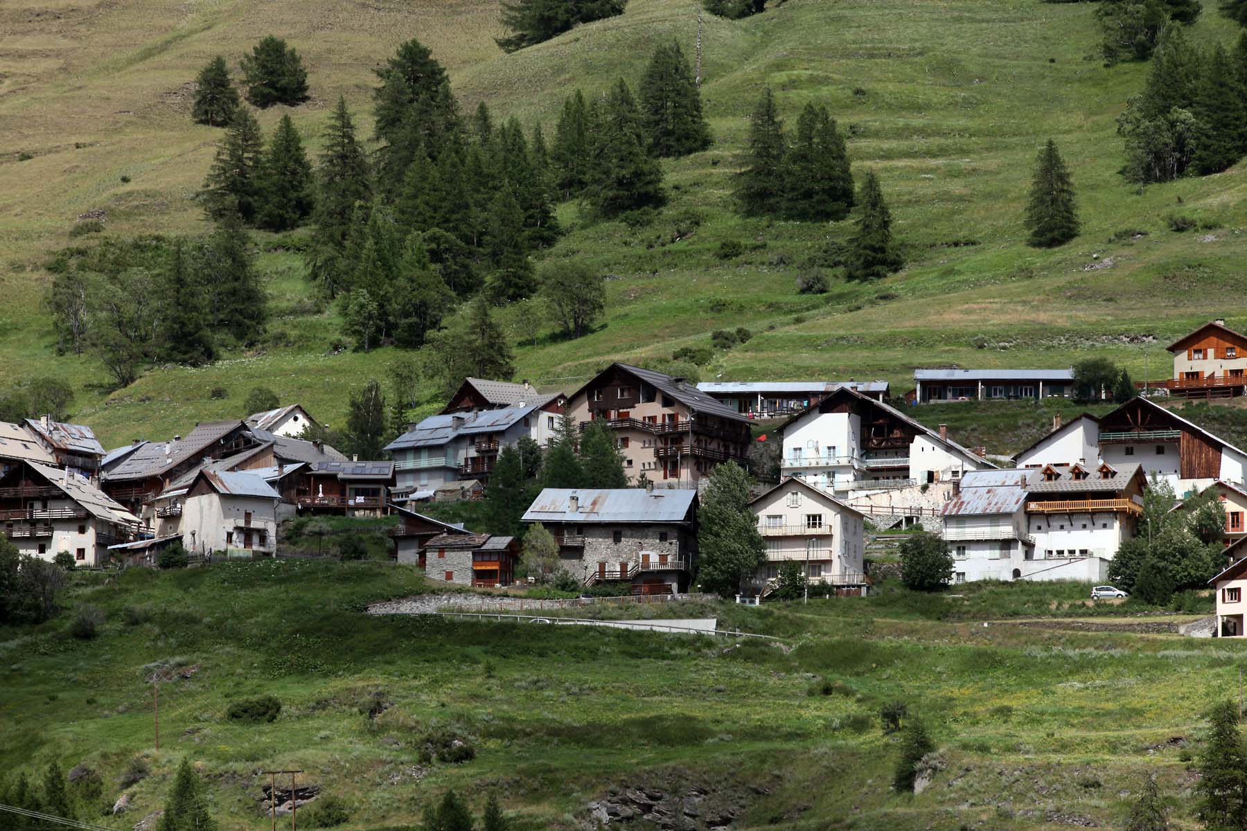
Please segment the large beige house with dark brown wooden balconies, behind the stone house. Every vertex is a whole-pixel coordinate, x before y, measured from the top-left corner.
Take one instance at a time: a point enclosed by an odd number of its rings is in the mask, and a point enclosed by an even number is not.
[[[567,397],[584,425],[614,431],[628,480],[696,487],[721,462],[746,463],[749,419],[681,378],[611,364]]]

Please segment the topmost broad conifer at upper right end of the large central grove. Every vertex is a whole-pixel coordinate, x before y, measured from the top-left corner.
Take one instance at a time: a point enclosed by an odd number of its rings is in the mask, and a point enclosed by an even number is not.
[[[711,146],[701,91],[676,41],[653,50],[641,78],[641,108],[650,152],[687,156]]]

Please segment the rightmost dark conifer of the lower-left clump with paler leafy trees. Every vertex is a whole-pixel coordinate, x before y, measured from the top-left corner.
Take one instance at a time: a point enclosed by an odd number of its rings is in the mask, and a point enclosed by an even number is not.
[[[195,283],[205,287],[207,316],[216,331],[254,344],[268,323],[268,300],[256,272],[247,232],[226,221],[208,238],[195,264]]]

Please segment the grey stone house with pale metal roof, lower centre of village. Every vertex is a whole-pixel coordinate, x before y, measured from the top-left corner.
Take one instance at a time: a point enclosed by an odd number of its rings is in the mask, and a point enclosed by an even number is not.
[[[688,591],[697,561],[693,490],[547,487],[524,521],[549,528],[560,567],[585,586],[624,582],[633,594]]]

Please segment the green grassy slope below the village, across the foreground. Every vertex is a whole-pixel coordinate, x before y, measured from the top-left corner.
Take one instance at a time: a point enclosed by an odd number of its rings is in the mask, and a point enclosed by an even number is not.
[[[519,831],[577,827],[591,801],[637,787],[698,789],[701,817],[732,810],[738,829],[1119,827],[1148,774],[1176,827],[1195,827],[1188,754],[1241,657],[1161,632],[1175,618],[1085,608],[1076,584],[676,612],[779,647],[369,618],[365,602],[421,591],[416,572],[382,563],[76,581],[61,617],[0,629],[0,765],[87,765],[104,782],[89,819],[118,830],[163,805],[183,757],[223,830],[267,827],[257,771],[283,767],[348,802],[344,831],[410,826],[449,787],[478,811],[496,792]],[[106,614],[95,640],[66,632],[86,604]],[[259,695],[281,700],[276,721],[226,718]],[[878,711],[890,701],[927,724],[944,762],[919,796],[888,787],[898,743]],[[466,741],[475,759],[421,761],[430,738]],[[99,814],[143,766],[127,814]]]

